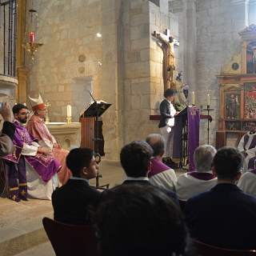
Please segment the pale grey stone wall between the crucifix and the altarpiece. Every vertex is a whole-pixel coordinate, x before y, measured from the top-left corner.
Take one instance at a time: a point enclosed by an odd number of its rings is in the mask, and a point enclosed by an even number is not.
[[[206,108],[206,96],[210,94],[210,108],[214,109],[210,112],[214,119],[210,123],[210,144],[215,146],[219,109],[218,79],[215,76],[220,74],[221,68],[232,60],[234,52],[241,52],[238,32],[249,23],[255,22],[255,4],[249,5],[246,1],[232,3],[227,0],[198,0],[194,2],[196,9],[193,13],[188,11],[191,9],[191,5],[188,6],[191,2],[193,1],[174,0],[169,2],[169,8],[172,13],[178,15],[180,27],[186,27],[186,21],[191,20],[193,16],[196,17],[196,30],[191,32],[191,30],[185,31],[184,29],[179,37],[183,37],[183,41],[187,44],[194,43],[194,38],[196,39],[193,57],[195,81],[194,85],[192,82],[190,86],[190,95],[194,90],[196,106]],[[182,30],[179,31],[182,33]],[[188,50],[181,47],[179,52],[184,56],[182,61],[185,66],[188,61],[186,57]],[[185,82],[190,85],[190,77],[188,74],[184,76]],[[206,114],[206,111],[202,114]]]

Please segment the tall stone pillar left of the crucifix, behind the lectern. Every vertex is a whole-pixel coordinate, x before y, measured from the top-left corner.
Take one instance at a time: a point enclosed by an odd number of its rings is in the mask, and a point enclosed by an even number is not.
[[[106,1],[104,6],[102,20],[111,12],[113,19],[102,22],[102,90],[107,88],[104,95],[114,111],[102,117],[104,150],[116,159],[126,143],[159,132],[158,122],[149,120],[150,114],[159,114],[163,94],[163,46],[153,33],[171,24],[178,34],[178,22],[166,1],[159,6],[150,1]]]

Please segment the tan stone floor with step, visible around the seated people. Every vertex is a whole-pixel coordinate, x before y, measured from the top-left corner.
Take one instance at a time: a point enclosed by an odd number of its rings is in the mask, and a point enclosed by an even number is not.
[[[185,172],[175,170],[177,176]],[[102,174],[100,186],[110,184],[111,188],[122,183],[120,162],[102,158],[99,173]],[[95,184],[96,179],[90,181],[90,185]],[[0,256],[55,255],[42,226],[43,217],[54,217],[50,201],[30,198],[27,202],[14,202],[3,194],[0,197]]]

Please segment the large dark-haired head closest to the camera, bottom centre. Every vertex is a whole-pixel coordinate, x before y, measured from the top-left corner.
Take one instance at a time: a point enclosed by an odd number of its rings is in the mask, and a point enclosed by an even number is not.
[[[104,193],[93,216],[100,255],[185,255],[183,214],[161,190],[129,184]]]

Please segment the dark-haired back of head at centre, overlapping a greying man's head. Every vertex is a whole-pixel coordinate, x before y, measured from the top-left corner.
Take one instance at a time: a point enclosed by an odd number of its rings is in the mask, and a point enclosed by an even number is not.
[[[120,153],[120,162],[128,177],[146,177],[153,150],[144,141],[130,142]]]

